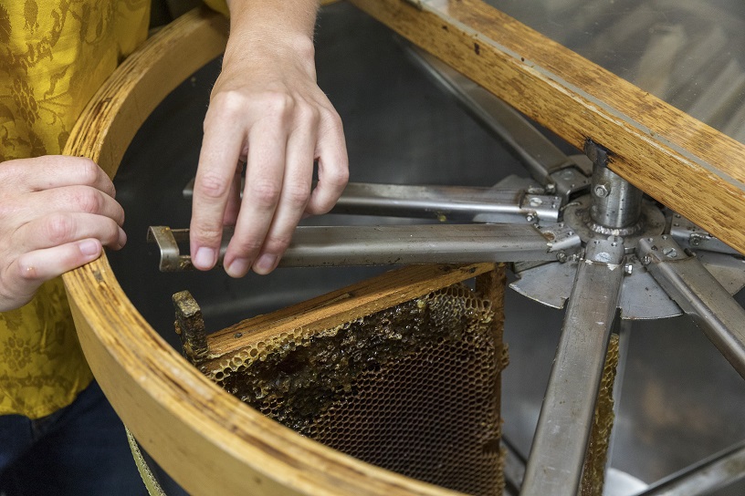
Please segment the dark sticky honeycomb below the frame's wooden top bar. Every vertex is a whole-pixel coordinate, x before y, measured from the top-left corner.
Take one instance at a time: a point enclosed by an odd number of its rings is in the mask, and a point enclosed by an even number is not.
[[[249,343],[203,371],[269,418],[384,469],[501,494],[499,373],[488,300],[465,284],[310,333]]]

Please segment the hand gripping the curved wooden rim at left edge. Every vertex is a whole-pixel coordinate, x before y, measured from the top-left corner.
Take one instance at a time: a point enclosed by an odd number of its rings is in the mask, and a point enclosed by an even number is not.
[[[126,243],[124,211],[99,166],[79,157],[0,163],[0,312],[49,279]]]

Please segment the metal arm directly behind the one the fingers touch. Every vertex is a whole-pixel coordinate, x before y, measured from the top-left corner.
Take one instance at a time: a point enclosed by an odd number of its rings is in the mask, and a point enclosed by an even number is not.
[[[523,190],[464,186],[411,186],[351,182],[331,213],[471,221],[487,214],[491,222],[559,221],[561,198]]]

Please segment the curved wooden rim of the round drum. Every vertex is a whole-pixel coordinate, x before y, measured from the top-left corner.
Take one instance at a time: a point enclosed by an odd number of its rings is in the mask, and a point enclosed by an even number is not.
[[[226,22],[194,12],[129,57],[91,101],[65,152],[113,176],[152,109],[225,47]],[[106,257],[64,275],[80,344],[111,404],[192,494],[456,494],[352,459],[279,426],[200,374],[155,333]]]

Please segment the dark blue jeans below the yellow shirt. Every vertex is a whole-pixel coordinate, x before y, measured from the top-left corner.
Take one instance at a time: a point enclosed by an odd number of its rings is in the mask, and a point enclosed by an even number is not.
[[[0,495],[147,495],[98,383],[47,417],[0,416]]]

